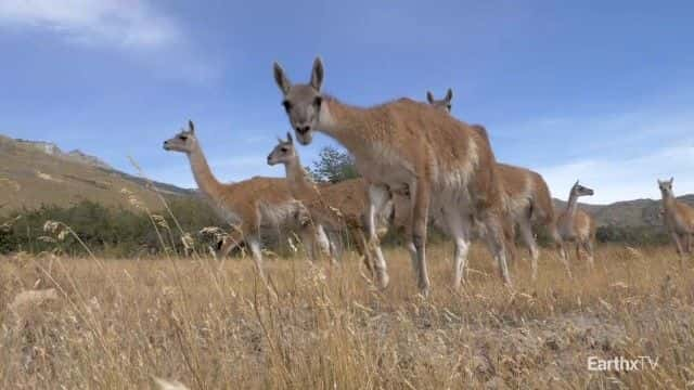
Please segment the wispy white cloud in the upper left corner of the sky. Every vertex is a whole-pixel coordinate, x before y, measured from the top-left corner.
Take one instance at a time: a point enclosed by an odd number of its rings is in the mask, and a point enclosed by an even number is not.
[[[220,76],[219,64],[200,53],[180,23],[150,0],[0,0],[0,27],[117,50],[156,69],[159,78],[209,82]]]

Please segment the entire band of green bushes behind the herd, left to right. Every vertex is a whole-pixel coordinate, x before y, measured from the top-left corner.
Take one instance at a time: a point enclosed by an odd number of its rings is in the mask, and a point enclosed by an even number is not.
[[[36,210],[20,210],[0,220],[0,253],[13,251],[57,250],[68,255],[85,255],[85,249],[70,234],[57,237],[56,232],[46,232],[47,221],[57,221],[69,226],[95,253],[110,257],[133,257],[160,255],[165,250],[183,253],[185,250],[181,231],[189,233],[198,252],[206,252],[207,245],[216,246],[211,239],[205,243],[197,232],[207,226],[219,226],[227,231],[228,225],[217,217],[206,203],[193,197],[174,197],[168,199],[169,207],[178,223],[167,212],[158,212],[154,220],[141,211],[124,208],[106,208],[97,203],[81,202],[63,208],[42,206]],[[160,216],[160,217],[158,217]],[[157,235],[156,223],[162,237]],[[429,230],[429,242],[447,240],[436,229]],[[552,242],[542,229],[538,230],[538,243],[543,246]],[[60,239],[59,239],[60,238]],[[663,245],[669,237],[661,226],[600,226],[596,239],[601,243],[622,243],[627,245]],[[286,253],[286,235],[279,232],[264,232],[266,247]],[[398,246],[403,242],[401,232],[388,233],[383,239],[386,246]],[[162,245],[164,243],[164,245]]]

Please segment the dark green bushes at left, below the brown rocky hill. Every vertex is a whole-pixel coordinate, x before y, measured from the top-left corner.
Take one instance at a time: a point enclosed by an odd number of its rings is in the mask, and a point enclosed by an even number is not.
[[[201,200],[172,198],[169,205],[182,231],[193,236],[205,226],[223,226],[214,211]],[[181,232],[176,222],[169,216],[160,214],[162,218],[156,218],[154,222],[163,234],[164,247],[182,252]],[[106,208],[88,200],[67,208],[42,206],[36,210],[23,209],[11,213],[10,220],[13,223],[0,229],[2,253],[60,250],[68,255],[83,255],[85,249],[72,235],[56,237],[55,232],[44,231],[47,221],[69,226],[92,251],[104,256],[130,257],[164,250],[153,220],[145,212]]]

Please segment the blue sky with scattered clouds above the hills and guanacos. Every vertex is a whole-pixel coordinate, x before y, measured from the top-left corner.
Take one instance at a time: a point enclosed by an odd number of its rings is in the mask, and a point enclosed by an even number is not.
[[[584,3],[584,4],[581,4]],[[694,192],[694,3],[670,1],[0,0],[0,133],[80,148],[153,179],[194,182],[162,142],[188,118],[223,181],[282,176],[265,157],[288,130],[280,61],[368,106],[454,91],[500,161],[565,198]],[[309,164],[320,135],[301,147]]]

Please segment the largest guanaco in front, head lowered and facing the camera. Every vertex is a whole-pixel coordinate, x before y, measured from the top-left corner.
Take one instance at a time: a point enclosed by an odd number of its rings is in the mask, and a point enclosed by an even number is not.
[[[460,286],[470,248],[472,218],[485,226],[487,243],[503,281],[511,284],[504,229],[503,187],[488,140],[467,123],[410,99],[369,108],[344,104],[323,94],[323,64],[316,58],[308,83],[292,83],[274,63],[274,79],[283,95],[297,141],[311,143],[314,132],[335,139],[355,157],[368,183],[369,238],[374,243],[377,281],[388,284],[374,219],[390,193],[408,193],[411,212],[408,249],[423,295],[429,290],[426,236],[429,213],[440,214],[455,242],[453,285]]]

